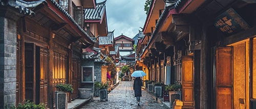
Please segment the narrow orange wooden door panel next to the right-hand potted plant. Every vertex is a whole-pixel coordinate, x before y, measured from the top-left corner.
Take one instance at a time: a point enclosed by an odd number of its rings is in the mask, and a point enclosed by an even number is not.
[[[193,58],[182,58],[182,108],[195,108],[194,106],[194,67]]]

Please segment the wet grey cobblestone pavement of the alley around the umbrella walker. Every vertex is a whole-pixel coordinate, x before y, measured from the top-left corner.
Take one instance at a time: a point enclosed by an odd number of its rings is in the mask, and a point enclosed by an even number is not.
[[[146,90],[142,89],[140,106],[136,102],[133,90],[133,81],[120,81],[119,85],[108,94],[108,101],[99,101],[99,98],[83,105],[82,108],[166,108],[159,104]]]

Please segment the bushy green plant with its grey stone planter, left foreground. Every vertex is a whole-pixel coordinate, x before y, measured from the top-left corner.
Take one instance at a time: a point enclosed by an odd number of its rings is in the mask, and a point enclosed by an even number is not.
[[[55,105],[56,108],[67,108],[69,93],[73,93],[74,89],[71,84],[57,84],[55,86]]]

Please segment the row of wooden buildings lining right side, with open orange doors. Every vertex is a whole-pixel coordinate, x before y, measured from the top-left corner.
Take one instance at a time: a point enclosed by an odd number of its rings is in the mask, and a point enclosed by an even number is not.
[[[182,85],[182,108],[254,108],[255,5],[153,0],[138,63],[151,80],[167,80],[169,70],[170,84]]]

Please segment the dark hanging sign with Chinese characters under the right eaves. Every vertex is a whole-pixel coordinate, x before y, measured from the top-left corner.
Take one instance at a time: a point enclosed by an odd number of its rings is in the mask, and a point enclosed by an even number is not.
[[[248,23],[232,8],[219,15],[214,25],[227,35],[249,29]]]

